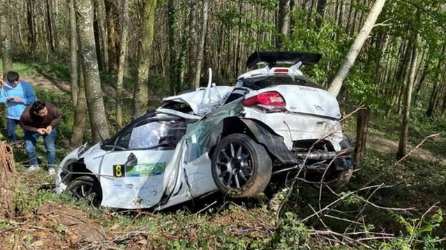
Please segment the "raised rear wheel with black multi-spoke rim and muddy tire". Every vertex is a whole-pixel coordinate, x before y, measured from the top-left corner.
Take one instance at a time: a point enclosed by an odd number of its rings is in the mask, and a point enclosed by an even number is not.
[[[223,138],[212,155],[212,178],[230,197],[250,197],[263,192],[272,175],[267,150],[246,134]]]

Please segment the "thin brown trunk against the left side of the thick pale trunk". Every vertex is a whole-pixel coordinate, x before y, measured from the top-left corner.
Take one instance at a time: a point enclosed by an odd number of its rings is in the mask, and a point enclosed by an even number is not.
[[[77,1],[77,0],[72,0]],[[75,117],[73,123],[73,132],[71,132],[70,147],[78,148],[84,142],[84,127],[87,119],[87,97],[85,97],[85,83],[82,77],[82,67],[80,67],[79,91],[77,91],[77,103],[75,106]]]

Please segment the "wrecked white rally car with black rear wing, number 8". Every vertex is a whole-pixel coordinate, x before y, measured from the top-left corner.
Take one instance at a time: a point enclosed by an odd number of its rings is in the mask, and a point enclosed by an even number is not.
[[[211,84],[209,70],[207,88],[167,97],[112,138],[69,153],[57,193],[161,210],[216,191],[255,196],[290,173],[345,185],[354,150],[341,130],[339,104],[299,70],[320,57],[255,52],[248,68],[266,67],[240,75],[235,86]]]

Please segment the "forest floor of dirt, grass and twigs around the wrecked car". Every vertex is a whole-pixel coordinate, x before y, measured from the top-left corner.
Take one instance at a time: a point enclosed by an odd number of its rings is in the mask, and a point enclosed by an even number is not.
[[[22,79],[35,86],[39,98],[63,109],[60,160],[69,151],[73,121],[69,83],[40,74]],[[114,93],[112,86],[104,89]],[[114,107],[112,100],[105,104]],[[344,128],[353,134],[354,118]],[[410,131],[411,147],[430,134],[440,136],[396,163],[399,121],[372,116],[366,155],[349,184],[332,194],[299,182],[280,216],[264,195],[232,200],[216,194],[162,212],[91,208],[68,194],[55,194],[54,178],[43,170],[28,173],[26,153],[15,149],[16,217],[0,218],[0,249],[397,249],[399,240],[417,248],[429,242],[446,247],[446,224],[435,215],[444,217],[446,211],[445,127],[415,117]],[[43,148],[39,153],[44,158]],[[329,206],[364,185],[371,188]],[[324,217],[314,216],[325,207],[330,210]]]

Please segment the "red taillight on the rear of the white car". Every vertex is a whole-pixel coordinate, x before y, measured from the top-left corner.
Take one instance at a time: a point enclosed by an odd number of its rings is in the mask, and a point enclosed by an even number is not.
[[[276,91],[264,92],[243,101],[245,107],[257,106],[267,111],[281,111],[285,109],[286,102],[282,95]]]

